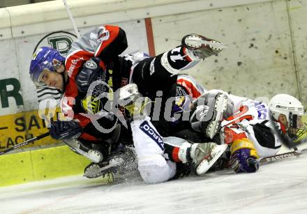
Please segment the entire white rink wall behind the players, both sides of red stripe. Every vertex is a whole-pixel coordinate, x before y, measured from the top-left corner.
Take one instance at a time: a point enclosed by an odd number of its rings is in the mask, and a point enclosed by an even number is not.
[[[126,52],[148,51],[144,24],[148,17],[156,54],[179,45],[186,33],[220,40],[230,47],[190,70],[207,89],[223,89],[250,98],[290,93],[307,105],[306,1],[67,2],[81,33],[100,24],[121,25],[130,45]],[[0,9],[0,82],[6,84],[1,86],[5,90],[1,91],[0,115],[37,109],[36,89],[28,75],[29,61],[43,36],[61,30],[73,33],[61,0]],[[12,90],[15,97],[8,94]],[[17,101],[20,98],[22,102]]]

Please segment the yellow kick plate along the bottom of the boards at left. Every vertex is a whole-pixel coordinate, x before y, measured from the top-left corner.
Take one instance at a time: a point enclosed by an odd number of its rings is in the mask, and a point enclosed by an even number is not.
[[[82,176],[90,161],[57,146],[35,151],[0,155],[0,186],[41,181],[63,176]]]

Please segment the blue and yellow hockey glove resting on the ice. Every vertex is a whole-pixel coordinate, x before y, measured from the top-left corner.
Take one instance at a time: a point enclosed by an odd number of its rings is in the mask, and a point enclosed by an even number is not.
[[[259,155],[253,142],[249,139],[242,138],[235,140],[232,143],[230,151],[230,165],[236,173],[250,173],[259,169],[259,162],[257,161]]]

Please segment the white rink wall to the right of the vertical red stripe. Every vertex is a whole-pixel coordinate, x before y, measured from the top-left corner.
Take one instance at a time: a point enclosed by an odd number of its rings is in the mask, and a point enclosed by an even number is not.
[[[230,47],[190,72],[207,89],[250,98],[289,93],[306,107],[306,16],[307,1],[292,0],[153,17],[156,52],[174,47],[189,32],[215,38]]]

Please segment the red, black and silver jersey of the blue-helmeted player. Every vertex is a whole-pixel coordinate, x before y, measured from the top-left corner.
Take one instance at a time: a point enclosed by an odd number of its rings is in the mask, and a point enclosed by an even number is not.
[[[89,98],[86,93],[80,93],[75,83],[75,77],[82,69],[84,62],[91,59],[91,57],[99,57],[102,61],[100,67],[102,69],[101,78],[110,87],[106,87],[106,93],[112,93],[121,86],[122,82],[126,81],[128,84],[128,77],[130,74],[131,62],[125,61],[118,55],[121,54],[126,48],[127,40],[126,33],[119,26],[100,26],[92,31],[84,33],[82,38],[78,39],[71,46],[65,61],[66,71],[68,72],[68,82],[66,89],[61,99],[61,110],[63,114],[72,119],[77,119],[80,125],[84,127],[84,134],[82,137],[85,139],[97,139],[98,136],[108,138],[109,135],[103,136],[103,133],[98,132],[96,137],[87,135],[86,130],[92,130],[91,120],[82,115],[88,112],[87,105],[93,105],[92,110],[98,111],[101,107],[100,102],[93,102],[89,104]],[[100,106],[96,106],[100,105]],[[114,119],[102,118],[100,122],[107,127],[114,123]],[[106,128],[107,128],[106,127]]]

